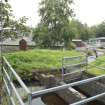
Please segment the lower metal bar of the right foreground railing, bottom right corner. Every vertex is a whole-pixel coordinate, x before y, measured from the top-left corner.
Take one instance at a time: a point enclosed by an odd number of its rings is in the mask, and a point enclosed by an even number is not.
[[[70,105],[82,105],[82,104],[85,104],[85,103],[87,103],[87,102],[93,101],[93,100],[95,100],[95,99],[97,99],[97,98],[100,98],[100,97],[102,97],[102,96],[105,96],[105,92],[104,92],[104,93],[101,93],[101,94],[98,94],[98,95],[96,95],[96,96],[93,96],[93,97],[86,98],[86,99],[84,99],[84,100],[75,102],[75,103],[70,104]]]

